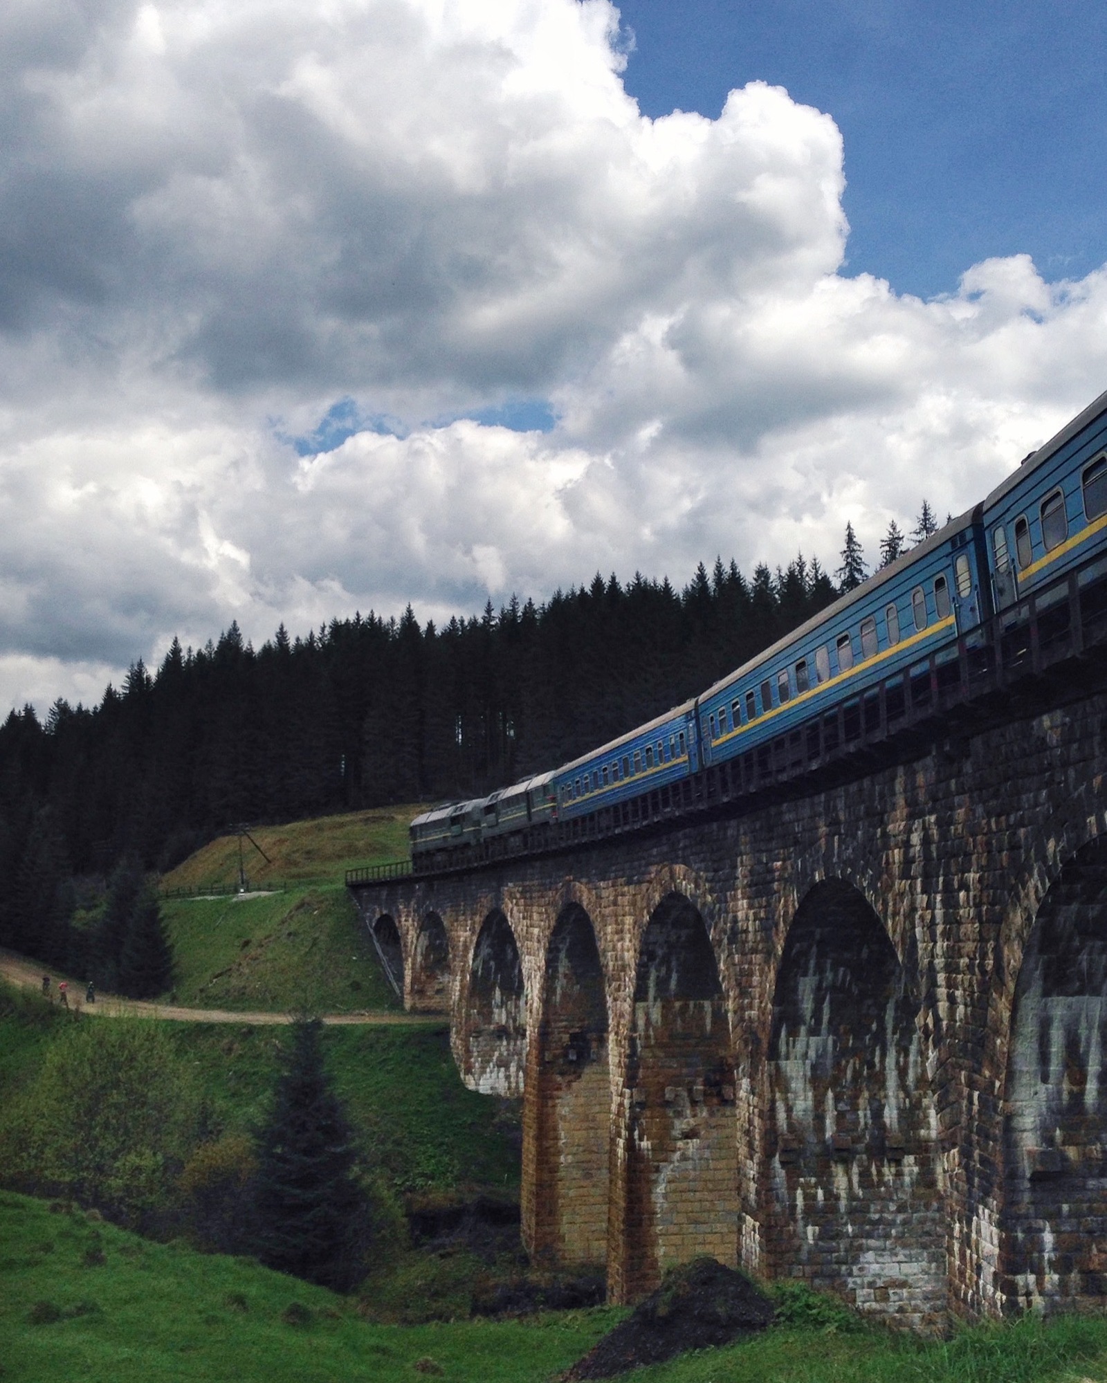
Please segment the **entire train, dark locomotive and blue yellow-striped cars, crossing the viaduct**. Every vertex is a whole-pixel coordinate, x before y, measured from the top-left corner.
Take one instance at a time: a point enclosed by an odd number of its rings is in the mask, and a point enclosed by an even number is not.
[[[1104,638],[1107,391],[980,503],[700,696],[560,768],[417,816],[412,870],[757,791]]]

